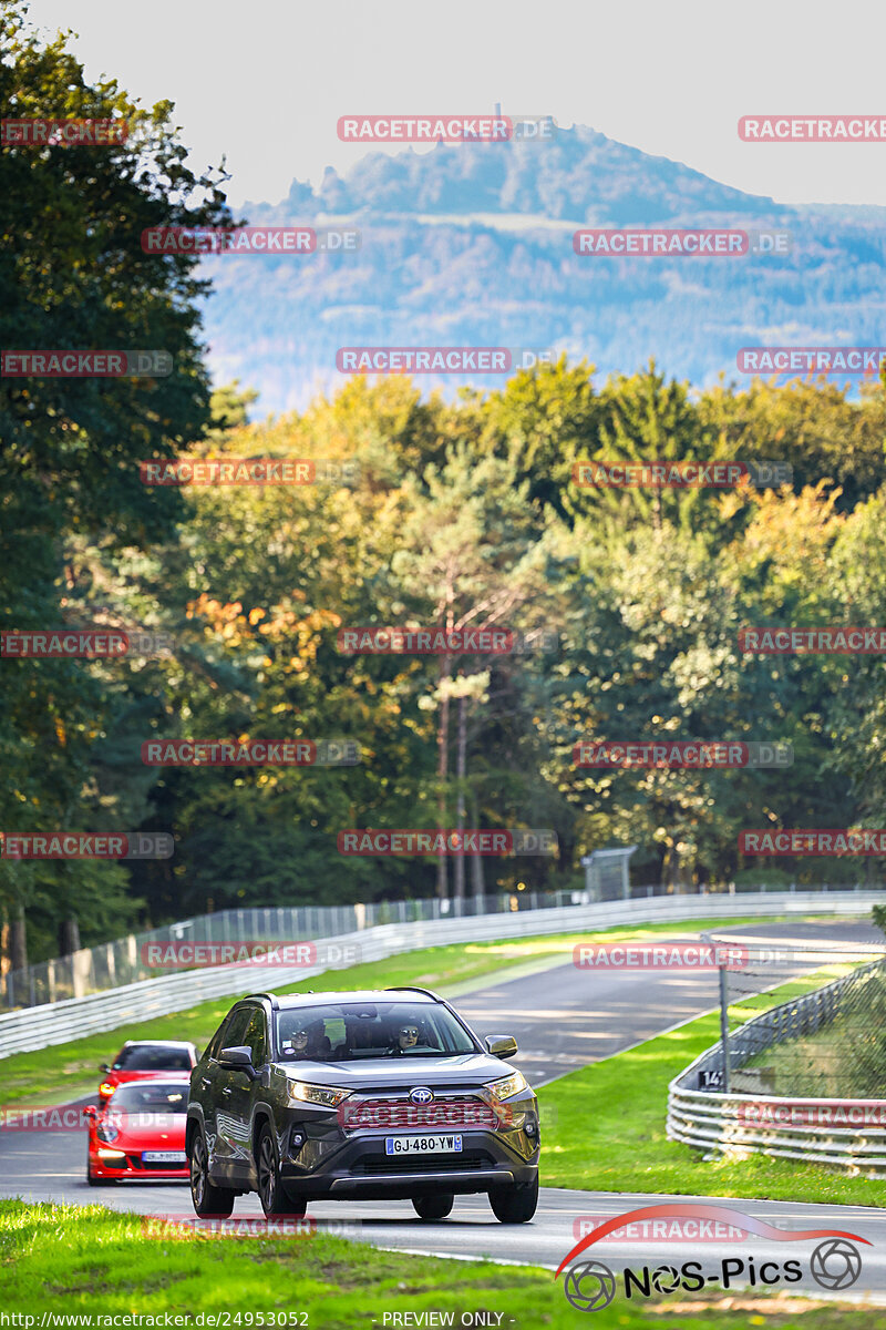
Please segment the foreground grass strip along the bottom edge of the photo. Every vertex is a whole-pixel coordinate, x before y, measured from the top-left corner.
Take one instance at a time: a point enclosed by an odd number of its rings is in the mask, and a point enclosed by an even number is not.
[[[100,1206],[0,1202],[0,1269],[3,1310],[35,1317],[32,1325],[44,1313],[96,1318],[170,1313],[187,1318],[179,1325],[193,1326],[205,1326],[209,1314],[223,1326],[227,1317],[227,1326],[238,1330],[262,1323],[259,1314],[268,1325],[271,1314],[286,1313],[290,1323],[310,1330],[369,1330],[373,1323],[421,1325],[416,1315],[434,1311],[453,1314],[453,1325],[466,1313],[491,1311],[503,1330],[575,1330],[582,1323],[582,1313],[566,1301],[562,1281],[550,1270],[379,1252],[325,1236],[151,1238],[139,1216]],[[740,1294],[693,1295],[691,1303],[677,1294],[640,1306],[616,1295],[594,1313],[594,1326],[651,1330],[667,1310],[679,1314],[680,1330],[782,1327],[794,1325],[805,1307],[804,1330],[849,1330],[859,1325],[859,1314],[866,1330],[886,1330],[885,1310],[861,1313],[857,1306],[804,1298],[751,1301]],[[408,1321],[404,1313],[410,1314]],[[92,1323],[102,1326],[100,1319]]]

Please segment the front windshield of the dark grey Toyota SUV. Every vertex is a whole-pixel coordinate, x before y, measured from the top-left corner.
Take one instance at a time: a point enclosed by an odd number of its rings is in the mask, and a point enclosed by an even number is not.
[[[402,1000],[296,1007],[276,1016],[286,1061],[352,1063],[377,1057],[476,1053],[468,1031],[438,1003]]]

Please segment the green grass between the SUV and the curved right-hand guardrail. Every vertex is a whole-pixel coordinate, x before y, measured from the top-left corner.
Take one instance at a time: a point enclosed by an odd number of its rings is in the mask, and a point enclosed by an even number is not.
[[[830,966],[772,994],[729,1007],[729,1024],[818,988],[843,974]],[[638,1048],[570,1072],[539,1089],[546,1186],[600,1192],[675,1192],[842,1205],[886,1204],[882,1180],[798,1160],[752,1154],[707,1162],[664,1132],[668,1083],[720,1037],[720,1016],[700,1016]]]

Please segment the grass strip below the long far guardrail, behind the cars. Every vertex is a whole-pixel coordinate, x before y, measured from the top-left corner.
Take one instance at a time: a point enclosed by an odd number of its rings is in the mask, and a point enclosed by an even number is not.
[[[569,960],[573,947],[606,935],[608,942],[639,942],[658,934],[691,932],[712,928],[725,920],[693,920],[656,923],[639,928],[610,928],[595,934],[559,934],[550,938],[519,938],[513,942],[460,943],[450,947],[428,947],[402,952],[388,960],[367,962],[348,970],[331,970],[313,979],[278,988],[280,994],[329,992],[336,988],[387,988],[392,984],[420,984],[434,988],[444,996],[470,980],[506,979],[507,970],[562,955]],[[729,926],[761,923],[754,919],[729,919]],[[766,920],[766,922],[773,922]],[[272,984],[272,972],[266,971],[256,987]],[[222,1017],[236,999],[218,998],[189,1007],[186,1011],[151,1020],[134,1021],[100,1035],[88,1035],[66,1044],[54,1044],[33,1053],[15,1053],[0,1061],[3,1079],[1,1099],[7,1107],[64,1104],[94,1092],[98,1087],[101,1063],[110,1061],[126,1039],[190,1039],[203,1048],[218,1029]],[[481,1032],[482,1033],[482,1032]]]

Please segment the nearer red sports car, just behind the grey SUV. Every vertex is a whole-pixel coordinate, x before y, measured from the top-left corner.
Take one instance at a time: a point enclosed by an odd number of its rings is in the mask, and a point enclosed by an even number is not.
[[[187,1181],[185,1127],[190,1081],[167,1077],[121,1085],[104,1108],[88,1108],[90,1186],[125,1178]]]

